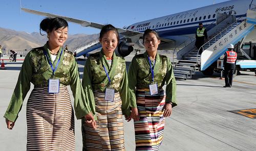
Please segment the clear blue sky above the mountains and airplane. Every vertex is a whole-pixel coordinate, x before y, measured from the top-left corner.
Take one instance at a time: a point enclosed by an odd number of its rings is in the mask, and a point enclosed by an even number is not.
[[[22,7],[67,17],[111,23],[123,28],[132,23],[221,3],[226,0],[22,0]],[[0,27],[39,32],[42,16],[20,11],[20,0],[0,0]],[[69,34],[95,34],[99,30],[69,22]]]

